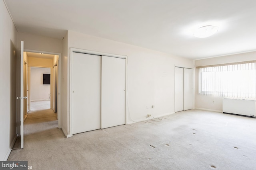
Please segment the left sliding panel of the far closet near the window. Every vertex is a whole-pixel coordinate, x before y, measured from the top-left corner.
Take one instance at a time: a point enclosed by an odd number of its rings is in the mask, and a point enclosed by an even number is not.
[[[174,89],[174,111],[183,111],[183,68],[175,67]]]

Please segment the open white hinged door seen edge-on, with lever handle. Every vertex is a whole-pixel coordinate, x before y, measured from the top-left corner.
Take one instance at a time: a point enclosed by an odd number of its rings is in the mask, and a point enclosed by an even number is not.
[[[20,56],[18,56],[18,61],[17,61],[17,97],[16,97],[16,114],[17,114],[17,134],[20,135],[20,148],[24,148],[24,133],[23,133],[23,122],[24,122],[24,114],[23,114],[23,104],[24,104],[24,99],[27,97],[24,97],[24,88],[23,88],[23,52],[24,52],[24,42],[20,42]]]

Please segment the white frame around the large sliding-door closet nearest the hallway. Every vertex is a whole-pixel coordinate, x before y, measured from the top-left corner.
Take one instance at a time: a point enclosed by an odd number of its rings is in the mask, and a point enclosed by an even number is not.
[[[126,55],[116,55],[116,54],[110,54],[110,53],[103,53],[103,52],[99,52],[99,51],[91,51],[91,50],[86,50],[86,49],[77,49],[77,48],[72,48],[70,47],[70,59],[68,60],[68,117],[69,117],[69,128],[68,128],[68,135],[67,137],[72,137],[73,133],[72,133],[72,100],[70,100],[71,96],[72,96],[72,59],[73,59],[73,53],[84,53],[84,54],[90,54],[90,55],[104,55],[107,57],[116,57],[116,58],[121,58],[121,59],[125,59],[125,124],[127,124],[127,61],[128,61],[128,57]]]

